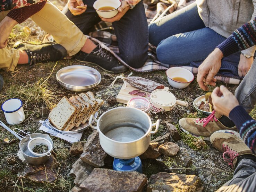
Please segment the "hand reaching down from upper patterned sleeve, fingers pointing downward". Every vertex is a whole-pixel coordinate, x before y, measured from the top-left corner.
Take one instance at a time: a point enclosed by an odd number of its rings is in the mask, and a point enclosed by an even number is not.
[[[216,48],[210,55],[207,56],[204,62],[200,64],[196,78],[200,88],[208,90],[209,88],[207,85],[216,85],[217,80],[214,78],[214,76],[220,70],[222,58],[223,54],[221,50]]]

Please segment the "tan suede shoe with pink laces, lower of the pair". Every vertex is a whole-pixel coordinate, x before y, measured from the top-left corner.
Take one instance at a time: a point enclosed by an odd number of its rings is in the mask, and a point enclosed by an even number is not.
[[[232,168],[236,168],[238,156],[254,155],[236,131],[216,131],[211,135],[210,141],[214,148],[223,152],[222,157]],[[229,158],[226,158],[225,155],[228,155]]]

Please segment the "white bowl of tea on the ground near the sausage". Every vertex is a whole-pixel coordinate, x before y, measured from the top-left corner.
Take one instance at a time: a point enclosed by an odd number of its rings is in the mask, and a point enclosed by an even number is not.
[[[166,71],[167,79],[169,84],[176,89],[184,89],[194,80],[194,75],[189,70],[182,67],[171,67]],[[174,77],[182,77],[187,82],[180,82],[173,80]]]

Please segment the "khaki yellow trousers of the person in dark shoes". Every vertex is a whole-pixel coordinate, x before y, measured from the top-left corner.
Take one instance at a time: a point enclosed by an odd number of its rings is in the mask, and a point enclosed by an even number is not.
[[[9,11],[0,12],[0,21]],[[54,40],[67,50],[69,56],[75,55],[84,46],[87,37],[57,7],[47,1],[43,9],[31,16],[31,19]],[[5,47],[0,49],[0,68],[14,71],[19,60],[19,51]]]

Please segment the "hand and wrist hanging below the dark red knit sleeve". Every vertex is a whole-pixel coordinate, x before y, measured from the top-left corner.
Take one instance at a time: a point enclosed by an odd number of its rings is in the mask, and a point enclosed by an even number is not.
[[[12,28],[18,24],[16,20],[6,16],[0,23],[0,49],[7,46],[8,37]]]

